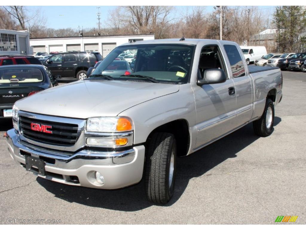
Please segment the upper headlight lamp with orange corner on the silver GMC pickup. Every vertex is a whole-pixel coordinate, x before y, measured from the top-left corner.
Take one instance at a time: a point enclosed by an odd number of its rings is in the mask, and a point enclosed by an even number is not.
[[[86,124],[88,132],[125,132],[132,129],[132,122],[126,117],[90,117]]]

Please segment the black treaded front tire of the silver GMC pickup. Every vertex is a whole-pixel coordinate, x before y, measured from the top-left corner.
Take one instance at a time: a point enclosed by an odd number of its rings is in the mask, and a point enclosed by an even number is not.
[[[174,194],[176,173],[176,140],[173,134],[154,133],[148,141],[145,190],[147,199],[166,204]]]

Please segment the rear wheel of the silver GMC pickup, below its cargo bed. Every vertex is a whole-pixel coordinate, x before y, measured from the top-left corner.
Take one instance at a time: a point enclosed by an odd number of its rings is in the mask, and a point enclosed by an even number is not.
[[[253,121],[253,129],[256,135],[266,137],[273,132],[274,125],[274,104],[273,101],[267,98],[263,115],[259,120]]]

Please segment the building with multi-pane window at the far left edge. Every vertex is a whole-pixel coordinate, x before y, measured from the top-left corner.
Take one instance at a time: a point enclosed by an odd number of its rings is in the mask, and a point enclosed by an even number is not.
[[[0,55],[30,55],[32,50],[27,30],[0,29]]]

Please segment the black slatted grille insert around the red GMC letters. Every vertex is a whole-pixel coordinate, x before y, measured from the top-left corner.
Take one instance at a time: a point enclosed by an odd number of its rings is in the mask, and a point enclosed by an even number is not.
[[[52,133],[39,132],[31,129],[31,123],[50,125]],[[78,137],[78,125],[54,121],[44,121],[32,117],[19,116],[21,134],[30,140],[44,144],[73,146]]]

